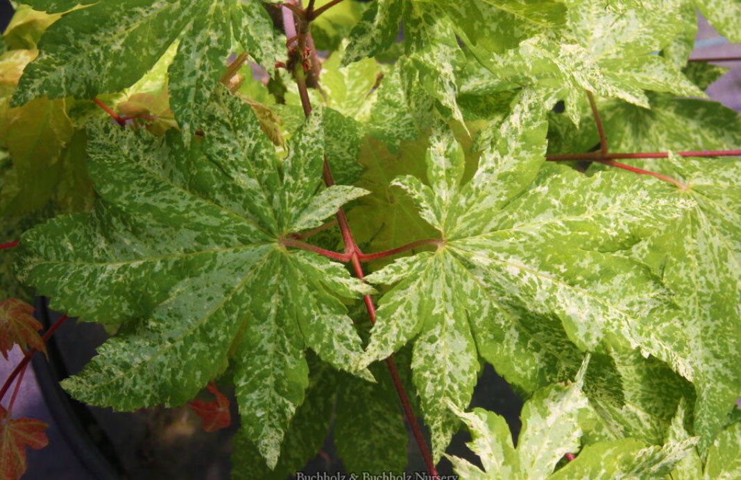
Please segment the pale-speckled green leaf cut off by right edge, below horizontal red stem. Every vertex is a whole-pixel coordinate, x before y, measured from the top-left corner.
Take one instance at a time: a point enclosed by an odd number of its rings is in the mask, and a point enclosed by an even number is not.
[[[741,184],[736,160],[671,157],[665,169],[688,186],[668,190],[695,206],[635,254],[677,293],[682,313],[659,322],[663,359],[697,388],[695,434],[705,451],[741,395]],[[722,341],[721,341],[722,339]]]

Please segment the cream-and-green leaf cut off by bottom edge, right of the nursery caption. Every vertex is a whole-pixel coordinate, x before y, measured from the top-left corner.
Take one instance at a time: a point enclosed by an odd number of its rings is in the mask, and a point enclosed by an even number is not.
[[[630,438],[599,442],[585,447],[573,462],[553,473],[565,453],[579,450],[579,416],[589,410],[582,393],[584,370],[568,387],[551,385],[525,402],[517,448],[501,416],[479,408],[463,413],[453,407],[471,431],[473,440],[468,445],[479,455],[485,470],[448,456],[456,473],[465,480],[654,479],[669,473],[697,442],[689,438],[664,447],[646,447]]]

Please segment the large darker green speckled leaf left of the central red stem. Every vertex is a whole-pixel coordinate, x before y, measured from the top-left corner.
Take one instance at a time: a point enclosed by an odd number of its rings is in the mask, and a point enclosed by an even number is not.
[[[90,215],[28,231],[21,280],[87,320],[128,319],[64,387],[117,410],[181,405],[233,357],[242,425],[274,466],[308,382],[305,348],[356,371],[361,342],[342,299],[372,291],[341,265],[279,240],[322,224],[362,189],[322,178],[322,115],[273,146],[246,104],[220,89],[202,142],[106,124],[90,129]],[[230,355],[231,354],[231,355]]]

